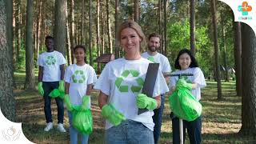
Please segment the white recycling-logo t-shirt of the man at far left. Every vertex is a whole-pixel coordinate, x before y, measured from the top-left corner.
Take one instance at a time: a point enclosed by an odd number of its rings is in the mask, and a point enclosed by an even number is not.
[[[60,65],[66,64],[66,59],[54,50],[40,54],[37,64],[43,66],[42,82],[58,82],[61,80]]]

